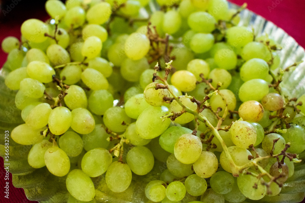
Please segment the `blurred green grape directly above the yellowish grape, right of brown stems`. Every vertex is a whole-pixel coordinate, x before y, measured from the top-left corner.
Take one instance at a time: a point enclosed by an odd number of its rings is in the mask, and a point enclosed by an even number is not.
[[[173,48],[173,51],[170,53],[170,56],[176,57],[176,59],[172,62],[172,65],[177,70],[185,70],[185,67],[187,67],[188,63],[194,59],[194,54],[192,50],[186,47]]]

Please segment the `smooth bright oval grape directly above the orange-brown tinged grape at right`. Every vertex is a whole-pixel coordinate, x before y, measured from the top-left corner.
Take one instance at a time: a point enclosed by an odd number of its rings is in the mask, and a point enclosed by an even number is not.
[[[268,83],[262,79],[248,80],[239,89],[238,95],[242,102],[255,100],[260,101],[269,93]]]

